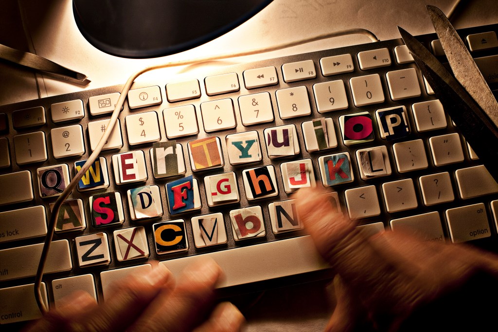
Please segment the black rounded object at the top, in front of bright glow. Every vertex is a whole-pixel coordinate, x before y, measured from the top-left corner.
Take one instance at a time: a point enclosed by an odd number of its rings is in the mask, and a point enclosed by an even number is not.
[[[98,49],[152,58],[206,43],[272,0],[73,0],[76,24]]]

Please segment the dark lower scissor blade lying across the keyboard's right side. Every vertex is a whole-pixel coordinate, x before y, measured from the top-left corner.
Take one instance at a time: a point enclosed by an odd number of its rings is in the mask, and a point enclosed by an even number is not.
[[[498,129],[480,106],[427,48],[398,26],[405,45],[467,142],[498,181]],[[492,147],[490,149],[490,147]]]

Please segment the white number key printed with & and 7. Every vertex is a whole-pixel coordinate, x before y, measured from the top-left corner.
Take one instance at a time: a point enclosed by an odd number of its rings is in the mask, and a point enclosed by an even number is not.
[[[244,126],[273,121],[273,108],[271,107],[271,99],[268,92],[240,96],[239,109]]]

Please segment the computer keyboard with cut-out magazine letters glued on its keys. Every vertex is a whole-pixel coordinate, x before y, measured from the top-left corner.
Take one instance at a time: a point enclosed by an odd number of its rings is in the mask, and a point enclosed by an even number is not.
[[[494,91],[496,31],[459,30]],[[444,62],[435,34],[417,38]],[[53,203],[121,89],[0,107],[1,324],[40,316],[33,277]],[[178,273],[211,256],[227,289],[317,278],[327,266],[292,199],[306,186],[332,188],[337,213],[367,231],[497,250],[498,184],[395,39],[135,83],[59,211],[45,301],[76,289],[103,301],[151,260]]]

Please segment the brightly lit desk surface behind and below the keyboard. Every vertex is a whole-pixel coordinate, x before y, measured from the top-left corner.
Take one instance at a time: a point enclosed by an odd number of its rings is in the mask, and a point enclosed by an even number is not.
[[[430,2],[448,12],[454,1]],[[462,2],[463,8],[453,20],[456,28],[498,22],[496,0]],[[168,57],[136,60],[108,55],[91,46],[74,23],[71,0],[2,0],[1,44],[34,52],[85,73],[92,83],[82,88],[0,63],[0,105],[122,84],[131,73],[151,64],[256,49],[328,31],[362,27],[380,40],[398,38],[396,25],[412,34],[430,33],[433,29],[425,4],[422,0],[274,0],[249,21],[205,45]],[[368,41],[365,36],[340,37],[230,61],[255,61]],[[170,68],[160,75],[174,75],[180,70]],[[154,75],[158,74],[150,73],[139,80]],[[323,330],[333,308],[333,301],[324,292],[325,284],[317,282],[235,299],[245,307],[249,323],[245,330]],[[253,305],[248,306],[250,302]]]

